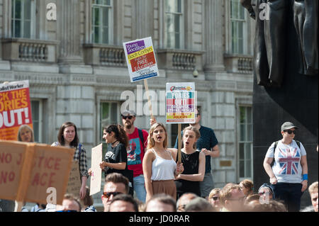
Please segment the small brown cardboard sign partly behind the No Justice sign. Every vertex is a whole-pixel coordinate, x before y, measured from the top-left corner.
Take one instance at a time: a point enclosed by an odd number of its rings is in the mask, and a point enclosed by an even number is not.
[[[79,174],[79,162],[73,161],[72,168],[69,172],[69,181],[67,182],[67,192],[79,197],[81,189],[81,176]]]

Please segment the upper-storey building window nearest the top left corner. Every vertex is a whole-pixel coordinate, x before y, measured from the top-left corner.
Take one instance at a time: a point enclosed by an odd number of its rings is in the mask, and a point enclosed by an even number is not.
[[[13,38],[32,38],[35,0],[12,0],[11,33]]]

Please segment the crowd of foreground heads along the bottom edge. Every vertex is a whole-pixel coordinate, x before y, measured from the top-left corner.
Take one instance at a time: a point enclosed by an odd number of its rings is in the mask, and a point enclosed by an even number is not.
[[[194,193],[184,193],[174,200],[162,193],[152,196],[147,203],[128,194],[128,183],[122,174],[106,176],[101,196],[104,212],[287,212],[285,203],[273,198],[274,191],[267,183],[262,184],[257,193],[254,193],[252,181],[244,180],[239,184],[227,183],[223,188],[213,188],[208,200]],[[250,193],[246,193],[246,183],[249,184]],[[245,188],[242,185],[246,185]],[[318,182],[313,183],[308,191],[313,208],[318,212]],[[76,198],[66,196],[63,210],[75,211],[88,205],[93,203],[87,201],[86,204],[80,204]]]

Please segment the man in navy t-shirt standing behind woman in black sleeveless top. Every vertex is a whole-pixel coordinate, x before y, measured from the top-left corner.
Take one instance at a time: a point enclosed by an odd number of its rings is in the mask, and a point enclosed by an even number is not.
[[[199,186],[201,188],[201,197],[206,198],[208,200],[209,193],[214,188],[213,183],[213,175],[211,174],[211,157],[217,158],[219,157],[219,147],[218,140],[214,131],[211,128],[205,127],[201,125],[199,122],[201,121],[201,113],[199,109],[196,109],[196,121],[194,124],[190,124],[194,128],[198,129],[201,133],[201,137],[196,142],[196,149],[203,152],[206,156],[206,164],[205,164],[205,176],[203,181],[199,182]],[[181,135],[182,137],[183,135]],[[175,147],[178,148],[178,137],[175,142]]]

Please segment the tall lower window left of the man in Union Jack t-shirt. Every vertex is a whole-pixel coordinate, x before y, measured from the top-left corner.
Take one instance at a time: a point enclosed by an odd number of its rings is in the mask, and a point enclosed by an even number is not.
[[[240,106],[239,177],[252,179],[252,107]]]

